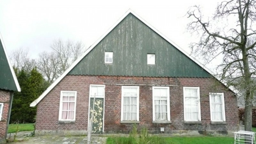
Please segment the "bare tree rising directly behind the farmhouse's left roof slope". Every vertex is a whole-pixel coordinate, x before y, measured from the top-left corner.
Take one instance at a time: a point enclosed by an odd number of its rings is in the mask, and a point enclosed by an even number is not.
[[[82,42],[54,40],[52,52],[43,52],[37,60],[39,71],[51,84],[84,52]]]

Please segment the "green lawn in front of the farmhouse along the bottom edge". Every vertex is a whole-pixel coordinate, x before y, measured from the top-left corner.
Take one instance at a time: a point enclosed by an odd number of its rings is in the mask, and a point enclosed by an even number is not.
[[[219,143],[225,143],[225,144],[233,144],[234,138],[233,137],[213,137],[213,136],[201,136],[201,137],[163,137],[164,142],[163,144],[219,144]],[[127,137],[118,137],[117,139],[123,139],[118,140],[118,143],[123,143],[124,139],[128,139]],[[107,144],[116,144],[115,138],[108,138]],[[123,141],[123,142],[121,142]],[[129,143],[129,142],[128,142]],[[162,143],[159,143],[162,144]]]

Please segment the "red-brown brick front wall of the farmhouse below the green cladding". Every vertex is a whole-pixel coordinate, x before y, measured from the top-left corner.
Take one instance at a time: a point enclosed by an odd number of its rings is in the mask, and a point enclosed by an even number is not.
[[[36,130],[87,130],[90,84],[105,86],[105,132],[129,132],[132,124],[120,124],[121,85],[142,84],[140,86],[140,124],[149,131],[159,132],[163,126],[170,130],[214,130],[233,131],[238,126],[236,97],[213,78],[168,78],[168,77],[129,77],[129,76],[71,76],[64,77],[51,92],[37,105]],[[146,84],[146,85],[143,85]],[[152,124],[152,86],[170,86],[170,113],[172,124]],[[184,124],[183,87],[200,87],[202,124]],[[59,124],[60,91],[77,91],[76,122]],[[209,92],[224,92],[227,124],[211,124]]]

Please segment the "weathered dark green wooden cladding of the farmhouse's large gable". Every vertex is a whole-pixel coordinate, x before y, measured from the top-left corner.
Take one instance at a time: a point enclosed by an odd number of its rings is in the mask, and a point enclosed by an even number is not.
[[[113,52],[113,64],[104,64],[104,52]],[[147,54],[156,54],[156,65],[147,65]],[[128,14],[69,75],[210,77],[155,31]]]

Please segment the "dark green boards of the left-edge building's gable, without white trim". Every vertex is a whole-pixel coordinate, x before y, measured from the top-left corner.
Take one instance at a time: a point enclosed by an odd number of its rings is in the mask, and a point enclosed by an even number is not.
[[[0,41],[0,89],[17,91],[3,45]]]

